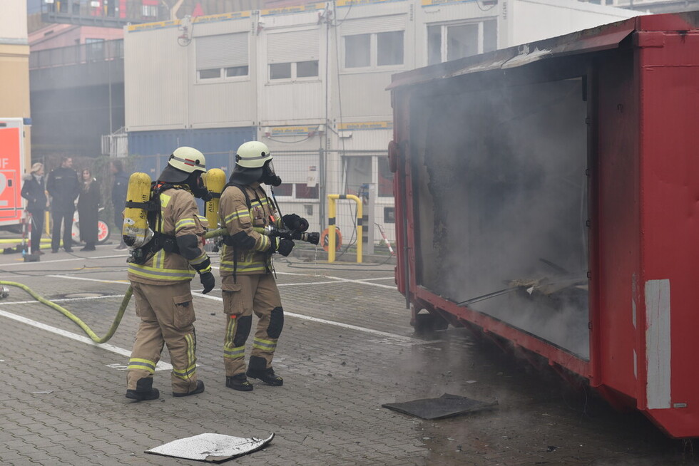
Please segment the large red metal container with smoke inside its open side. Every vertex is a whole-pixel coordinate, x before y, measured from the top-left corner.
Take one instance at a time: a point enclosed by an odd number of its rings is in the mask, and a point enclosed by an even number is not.
[[[699,12],[394,76],[396,280],[699,437]]]

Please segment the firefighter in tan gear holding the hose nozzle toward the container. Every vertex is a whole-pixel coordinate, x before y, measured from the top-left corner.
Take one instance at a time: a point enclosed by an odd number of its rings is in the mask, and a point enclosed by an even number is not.
[[[241,145],[235,160],[218,212],[222,226],[228,229],[220,263],[226,318],[223,362],[226,386],[249,391],[252,384],[248,377],[274,386],[284,381],[272,369],[277,339],[284,326],[284,311],[272,274],[272,254],[288,256],[294,247],[291,239],[265,236],[253,227],[273,224],[301,232],[308,228],[308,222],[295,214],[280,219],[272,200],[260,186],[281,184],[265,144],[251,141]],[[259,321],[246,372],[245,342],[250,335],[253,312]]]

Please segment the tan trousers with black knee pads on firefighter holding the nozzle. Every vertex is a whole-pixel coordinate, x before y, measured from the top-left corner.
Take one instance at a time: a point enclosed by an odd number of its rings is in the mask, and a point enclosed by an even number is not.
[[[250,335],[253,312],[259,320],[250,356],[264,358],[265,368],[272,367],[277,340],[284,324],[282,300],[274,276],[238,275],[234,283],[233,275],[227,275],[222,277],[221,289],[223,311],[226,314],[223,343],[225,375],[245,373],[245,342]]]

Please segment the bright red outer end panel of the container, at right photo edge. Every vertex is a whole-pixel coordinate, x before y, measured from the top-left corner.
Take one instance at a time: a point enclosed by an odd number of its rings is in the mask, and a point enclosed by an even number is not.
[[[657,33],[653,33],[657,34]],[[645,42],[643,38],[641,42]],[[675,437],[699,436],[699,373],[696,354],[699,319],[699,34],[663,33],[641,48],[641,210],[643,280],[668,281],[670,302],[663,314],[648,306],[646,341],[648,410]],[[650,303],[651,296],[646,296]],[[641,321],[645,321],[641,320]],[[667,321],[669,373],[658,373],[657,326]],[[664,330],[664,331],[665,331]],[[660,380],[658,394],[651,390]],[[663,403],[655,403],[662,395]],[[668,398],[669,397],[669,398]],[[643,408],[643,405],[641,405]],[[653,409],[665,408],[665,409]]]

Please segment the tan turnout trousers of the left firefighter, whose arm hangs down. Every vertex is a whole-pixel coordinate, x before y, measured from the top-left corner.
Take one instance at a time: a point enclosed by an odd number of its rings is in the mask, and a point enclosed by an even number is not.
[[[149,285],[131,281],[131,286],[141,323],[128,361],[126,388],[136,390],[139,379],[153,377],[163,345],[167,345],[173,365],[173,392],[195,390],[197,338],[190,282]]]

